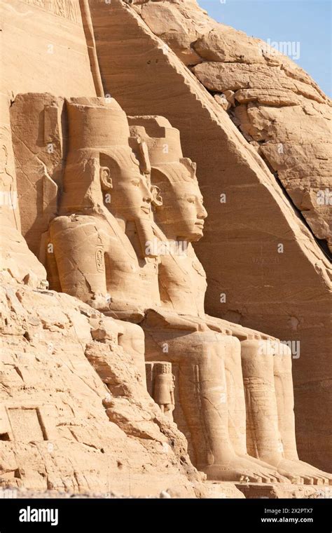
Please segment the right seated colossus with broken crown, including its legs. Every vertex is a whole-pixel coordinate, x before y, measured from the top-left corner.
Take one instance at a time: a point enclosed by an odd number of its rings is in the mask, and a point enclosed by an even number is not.
[[[159,267],[162,306],[183,318],[190,315],[202,328],[207,326],[219,334],[228,328],[233,335],[228,337],[228,344],[225,339],[218,341],[225,346],[223,398],[228,407],[225,419],[228,418],[230,443],[239,457],[250,454],[296,483],[328,483],[328,478],[332,480],[330,475],[298,459],[289,347],[273,337],[205,315],[205,272],[191,242],[202,236],[206,212],[195,166],[182,158],[178,130],[162,117],[133,117],[130,124],[133,135],[148,146],[151,184],[160,196],[155,204],[152,246],[162,252]],[[148,327],[146,333],[146,357],[151,351],[155,358],[155,341],[162,346],[167,335],[163,337],[153,327]],[[240,343],[236,343],[236,337]],[[148,338],[153,343],[149,344]],[[175,346],[174,349],[177,351]],[[167,356],[174,358],[170,352]],[[199,446],[200,442],[195,448],[202,450]],[[216,461],[202,469],[209,475],[219,476]]]

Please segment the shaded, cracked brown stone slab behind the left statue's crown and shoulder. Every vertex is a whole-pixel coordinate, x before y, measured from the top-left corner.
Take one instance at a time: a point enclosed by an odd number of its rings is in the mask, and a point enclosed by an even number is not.
[[[59,132],[63,106],[63,97],[27,93],[15,97],[11,107],[22,234],[37,257],[41,234],[57,212],[57,189],[67,150],[66,136]]]

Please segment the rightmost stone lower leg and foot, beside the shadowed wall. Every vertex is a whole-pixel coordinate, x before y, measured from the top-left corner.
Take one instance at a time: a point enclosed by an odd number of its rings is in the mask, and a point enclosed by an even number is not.
[[[296,432],[294,417],[293,377],[291,374],[292,355],[289,346],[278,343],[274,356],[275,391],[277,396],[277,410],[279,431],[282,437],[284,457],[288,461],[295,461],[296,468],[300,465],[303,475],[312,479],[315,484],[332,485],[332,475],[314,468],[310,464],[298,459],[296,449]]]

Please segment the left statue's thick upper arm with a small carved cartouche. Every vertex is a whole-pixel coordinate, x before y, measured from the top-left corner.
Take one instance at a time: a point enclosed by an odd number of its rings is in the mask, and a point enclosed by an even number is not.
[[[105,236],[95,217],[57,217],[50,224],[59,281],[63,292],[89,302],[102,295],[105,309]],[[52,249],[52,248],[51,248]]]

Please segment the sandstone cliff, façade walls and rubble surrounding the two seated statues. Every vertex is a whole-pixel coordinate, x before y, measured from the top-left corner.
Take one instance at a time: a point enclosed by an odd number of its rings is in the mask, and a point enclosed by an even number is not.
[[[329,184],[328,99],[195,0],[80,2],[89,3],[91,21],[72,1],[1,3],[0,484],[207,495],[184,435],[121,346],[121,325],[47,290],[37,259],[62,188],[64,99],[100,91],[127,114],[179,128],[209,213],[195,245],[207,312],[299,343],[298,450],[327,470],[330,215],[317,191]]]

